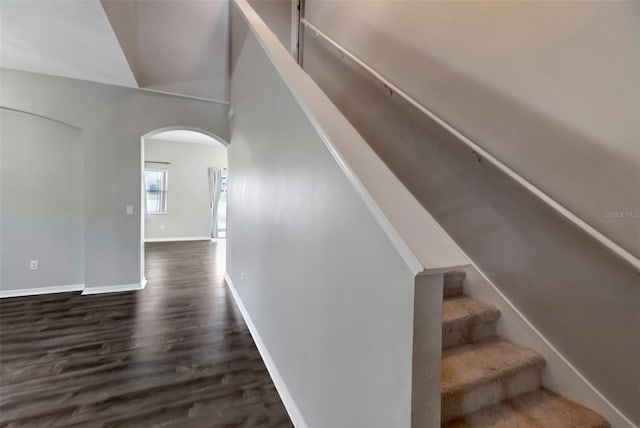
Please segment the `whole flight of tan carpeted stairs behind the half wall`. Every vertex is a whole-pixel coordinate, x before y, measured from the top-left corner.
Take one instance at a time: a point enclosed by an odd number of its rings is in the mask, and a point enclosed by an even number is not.
[[[544,358],[496,336],[497,308],[462,294],[464,272],[444,280],[442,426],[606,428],[597,413],[542,388]]]

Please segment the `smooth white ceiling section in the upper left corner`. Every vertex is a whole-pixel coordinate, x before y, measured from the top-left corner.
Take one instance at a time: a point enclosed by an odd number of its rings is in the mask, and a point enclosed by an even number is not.
[[[0,0],[0,65],[136,87],[98,0]]]

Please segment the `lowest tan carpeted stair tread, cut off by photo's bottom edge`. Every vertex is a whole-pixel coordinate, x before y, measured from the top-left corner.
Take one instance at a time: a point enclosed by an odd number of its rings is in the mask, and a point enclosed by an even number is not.
[[[443,424],[444,428],[607,428],[594,411],[539,389]]]

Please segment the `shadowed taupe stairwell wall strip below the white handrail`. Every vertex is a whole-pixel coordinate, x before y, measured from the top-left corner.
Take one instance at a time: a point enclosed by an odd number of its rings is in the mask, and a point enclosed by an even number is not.
[[[449,235],[639,423],[637,272],[318,39],[304,49],[305,70]]]

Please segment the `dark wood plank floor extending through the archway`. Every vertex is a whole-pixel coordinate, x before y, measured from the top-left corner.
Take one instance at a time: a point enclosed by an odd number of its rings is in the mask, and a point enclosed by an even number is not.
[[[147,244],[143,291],[2,299],[0,426],[291,426],[224,256]]]

